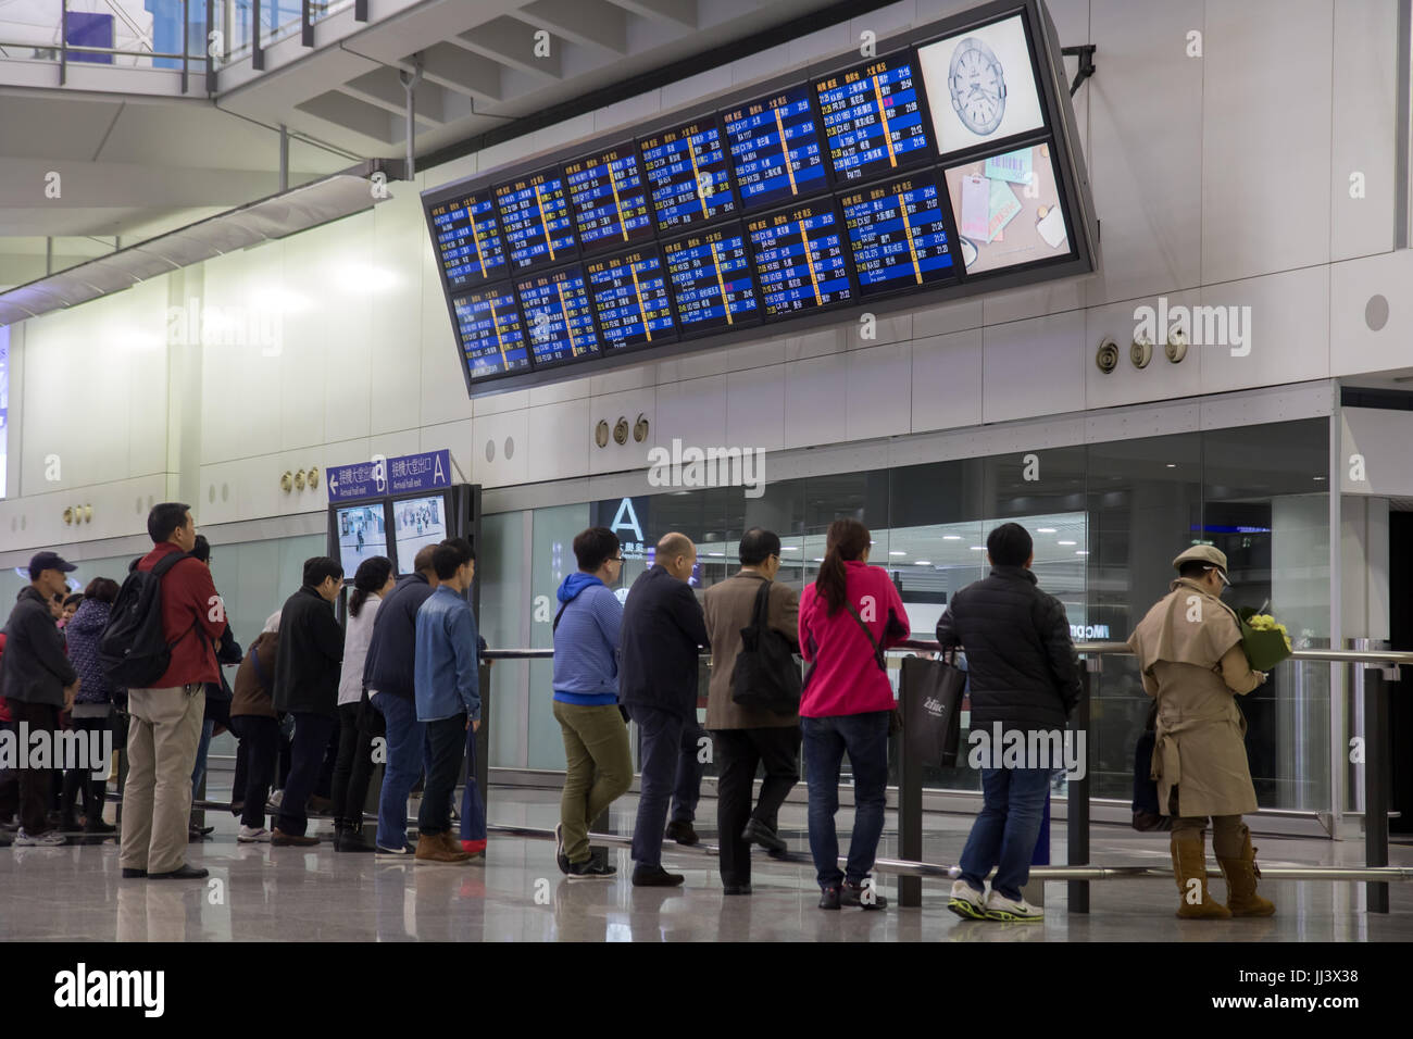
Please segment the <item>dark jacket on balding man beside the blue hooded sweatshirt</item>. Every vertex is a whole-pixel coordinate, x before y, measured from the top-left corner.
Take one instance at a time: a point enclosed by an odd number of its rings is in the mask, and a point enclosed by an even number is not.
[[[639,574],[623,604],[619,700],[682,717],[694,712],[698,647],[709,645],[691,585],[654,564]]]

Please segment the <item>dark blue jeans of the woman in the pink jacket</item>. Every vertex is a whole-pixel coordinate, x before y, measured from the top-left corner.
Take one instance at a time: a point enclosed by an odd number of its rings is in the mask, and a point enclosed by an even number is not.
[[[873,868],[883,835],[887,803],[887,724],[892,711],[801,718],[804,770],[810,787],[810,854],[821,888],[841,881],[861,885]],[[844,752],[853,766],[853,837],[849,861],[839,872],[839,838],[834,816],[839,810],[839,768]]]

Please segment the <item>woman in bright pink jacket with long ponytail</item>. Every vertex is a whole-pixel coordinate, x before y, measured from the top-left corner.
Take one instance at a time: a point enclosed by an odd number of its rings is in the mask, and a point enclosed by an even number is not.
[[[800,597],[800,652],[811,664],[800,695],[804,768],[810,786],[810,854],[820,879],[820,909],[882,909],[869,871],[883,834],[887,735],[893,687],[883,650],[909,638],[903,599],[887,571],[870,567],[869,529],[829,524],[824,563]],[[839,766],[853,766],[853,838],[839,872]]]

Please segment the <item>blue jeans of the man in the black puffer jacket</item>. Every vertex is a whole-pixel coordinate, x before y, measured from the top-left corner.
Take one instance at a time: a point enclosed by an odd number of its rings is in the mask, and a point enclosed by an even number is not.
[[[996,867],[992,891],[1019,899],[1030,879],[1030,858],[1040,837],[1040,817],[1050,792],[1050,769],[982,769],[985,804],[962,850],[962,879],[985,891],[986,874]]]

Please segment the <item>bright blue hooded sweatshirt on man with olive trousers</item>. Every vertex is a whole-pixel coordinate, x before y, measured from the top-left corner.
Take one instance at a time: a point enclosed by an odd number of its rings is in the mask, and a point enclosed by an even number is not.
[[[617,703],[617,645],[623,605],[593,574],[575,571],[555,597],[564,606],[554,629],[554,698],[601,707]]]

